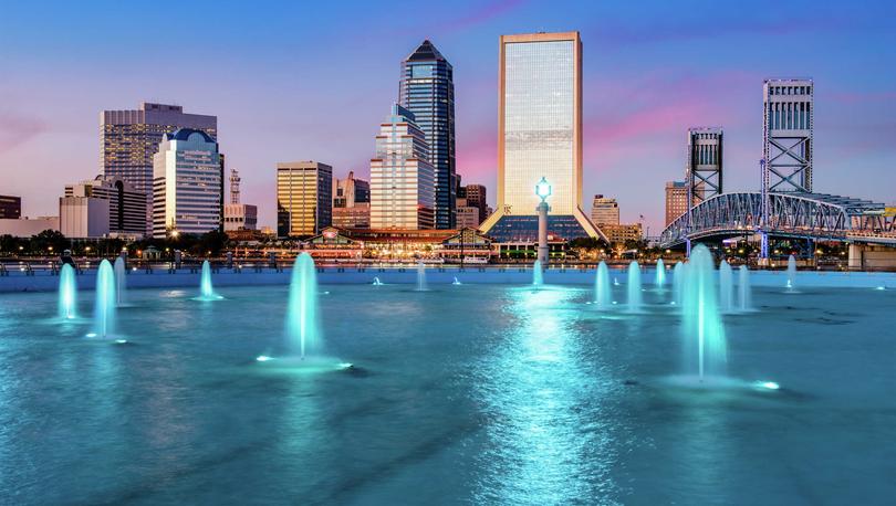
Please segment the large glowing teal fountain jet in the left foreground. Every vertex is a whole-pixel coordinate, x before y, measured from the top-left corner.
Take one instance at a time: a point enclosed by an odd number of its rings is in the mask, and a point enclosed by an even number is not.
[[[317,315],[317,272],[314,260],[308,253],[295,259],[290,280],[290,298],[286,309],[286,339],[290,354],[305,358],[319,352],[322,329]]]

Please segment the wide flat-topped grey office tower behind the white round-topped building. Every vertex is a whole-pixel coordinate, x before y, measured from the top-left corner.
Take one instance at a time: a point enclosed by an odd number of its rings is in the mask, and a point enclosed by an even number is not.
[[[143,102],[138,109],[100,114],[101,173],[121,178],[146,194],[149,229],[153,223],[153,156],[158,152],[162,137],[178,128],[194,128],[212,139],[218,138],[216,116],[185,114],[179,105]]]

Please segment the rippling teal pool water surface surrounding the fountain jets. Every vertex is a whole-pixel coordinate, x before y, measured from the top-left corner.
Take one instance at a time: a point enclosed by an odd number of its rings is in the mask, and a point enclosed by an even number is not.
[[[780,389],[695,392],[659,382],[681,367],[680,316],[656,291],[629,317],[590,310],[591,283],[533,291],[473,275],[426,296],[320,286],[326,349],[362,367],[313,377],[253,359],[282,350],[286,285],[197,304],[195,286],[132,282],[134,308],[117,315],[131,346],[80,339],[88,319],[40,324],[55,293],[0,294],[0,503],[896,497],[896,291],[756,286],[761,312],[726,317],[728,373]],[[624,304],[625,287],[612,289]]]

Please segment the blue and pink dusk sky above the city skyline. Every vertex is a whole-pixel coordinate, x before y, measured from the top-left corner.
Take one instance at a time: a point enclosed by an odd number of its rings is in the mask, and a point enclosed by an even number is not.
[[[455,68],[457,169],[496,200],[498,36],[582,33],[584,196],[659,232],[686,130],[725,128],[727,190],[757,190],[762,80],[815,80],[815,191],[896,202],[896,2],[15,2],[0,0],[0,193],[55,215],[100,172],[100,112],[218,116],[242,201],[273,225],[278,161],[366,177],[399,63]]]

